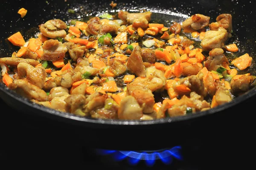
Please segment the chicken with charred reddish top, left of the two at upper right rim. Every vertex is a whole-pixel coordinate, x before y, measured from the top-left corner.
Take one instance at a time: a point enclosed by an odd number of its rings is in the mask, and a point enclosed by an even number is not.
[[[201,30],[209,25],[209,20],[210,17],[202,14],[195,14],[183,21],[182,26],[183,28],[190,26],[195,30]]]

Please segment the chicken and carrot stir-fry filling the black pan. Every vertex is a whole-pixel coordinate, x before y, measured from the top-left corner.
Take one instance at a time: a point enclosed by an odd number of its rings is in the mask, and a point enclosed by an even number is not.
[[[19,46],[0,58],[2,82],[30,101],[97,119],[153,120],[231,102],[253,87],[239,57],[232,16],[214,22],[193,14],[170,26],[150,11],[102,14],[88,20],[51,19],[35,37],[8,37]],[[231,54],[231,55],[230,55]],[[242,74],[241,74],[242,73]]]

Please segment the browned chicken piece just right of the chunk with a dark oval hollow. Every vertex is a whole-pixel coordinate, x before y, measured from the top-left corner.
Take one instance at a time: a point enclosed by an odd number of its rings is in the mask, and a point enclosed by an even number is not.
[[[77,45],[74,42],[65,42],[63,43],[67,47],[67,50],[70,54],[70,57],[74,60],[77,61],[78,58],[82,58],[84,54],[87,53],[87,49],[85,45]]]

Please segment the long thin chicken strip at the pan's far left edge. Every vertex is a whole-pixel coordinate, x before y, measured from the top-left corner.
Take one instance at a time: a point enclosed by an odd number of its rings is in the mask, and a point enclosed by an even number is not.
[[[6,65],[12,65],[12,66],[17,66],[20,62],[26,62],[34,67],[39,64],[39,61],[35,59],[23,59],[18,57],[3,57],[3,58],[0,58],[0,62],[5,63]]]

